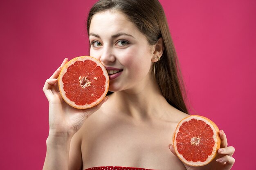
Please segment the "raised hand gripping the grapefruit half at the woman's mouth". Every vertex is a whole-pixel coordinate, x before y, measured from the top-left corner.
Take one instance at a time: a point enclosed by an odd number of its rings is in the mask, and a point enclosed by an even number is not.
[[[83,110],[68,105],[61,97],[57,79],[61,68],[66,63],[67,58],[53,75],[46,80],[43,87],[43,92],[49,101],[49,135],[57,137],[73,136],[81,128],[85,119],[98,110],[108,99],[108,97],[105,97],[97,106]]]

